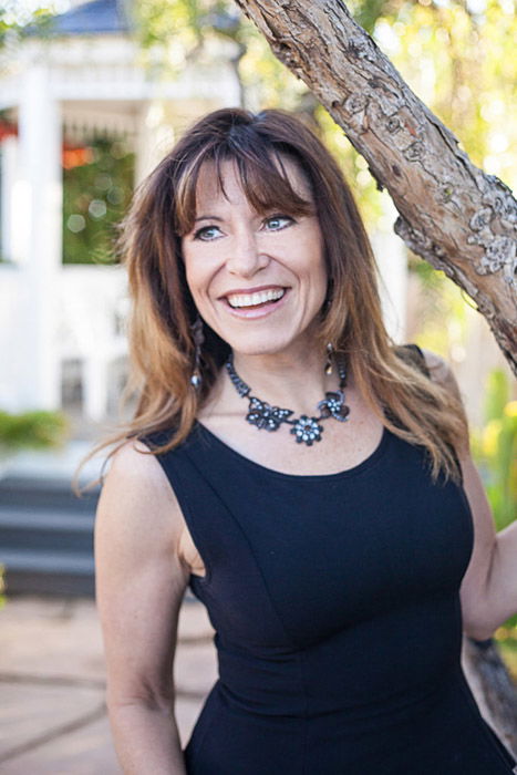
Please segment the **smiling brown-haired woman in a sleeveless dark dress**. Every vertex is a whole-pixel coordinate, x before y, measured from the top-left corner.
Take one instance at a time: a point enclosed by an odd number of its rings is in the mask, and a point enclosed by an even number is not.
[[[462,614],[487,638],[517,608],[517,531],[496,539],[445,365],[389,341],[328,152],[281,112],[213,113],[124,235],[138,403],[96,524],[124,772],[511,773],[459,650]],[[187,585],[220,678],[182,752]]]

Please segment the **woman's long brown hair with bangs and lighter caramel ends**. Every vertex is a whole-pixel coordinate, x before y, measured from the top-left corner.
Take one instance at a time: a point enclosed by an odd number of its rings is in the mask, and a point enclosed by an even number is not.
[[[297,194],[283,159],[294,162],[310,184],[313,204]],[[412,444],[426,447],[431,471],[457,479],[454,446],[466,431],[458,399],[415,365],[391,342],[383,324],[376,267],[349,186],[331,154],[300,121],[278,110],[258,114],[224,108],[198,121],[136,190],[122,223],[120,247],[133,300],[130,320],[131,372],[123,405],[136,397],[133,418],[92,453],[128,437],[172,431],[165,452],[189,434],[199,406],[214,385],[229,348],[206,323],[201,388],[190,384],[192,324],[196,309],[187,288],[180,239],[196,217],[200,169],[232,161],[258,213],[313,211],[324,240],[329,287],[320,312],[322,347],[332,342],[345,355],[362,395],[383,424]],[[87,459],[87,458],[86,458]]]

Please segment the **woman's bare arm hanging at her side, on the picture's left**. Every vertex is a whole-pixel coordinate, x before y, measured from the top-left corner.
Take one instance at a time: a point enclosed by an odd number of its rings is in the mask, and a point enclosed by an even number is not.
[[[95,523],[106,701],[126,775],[186,772],[173,683],[177,620],[188,582],[178,554],[182,527],[158,461],[128,442],[114,456]]]

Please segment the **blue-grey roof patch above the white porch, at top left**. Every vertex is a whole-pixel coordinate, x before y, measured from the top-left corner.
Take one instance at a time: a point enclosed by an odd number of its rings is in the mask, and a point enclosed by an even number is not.
[[[51,35],[124,33],[131,30],[124,0],[91,0],[54,17],[45,28]]]

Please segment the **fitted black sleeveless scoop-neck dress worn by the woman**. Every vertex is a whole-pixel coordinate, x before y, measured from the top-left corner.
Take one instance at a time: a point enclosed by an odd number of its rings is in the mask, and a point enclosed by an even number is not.
[[[514,772],[459,663],[468,504],[432,483],[421,447],[384,430],[352,469],[296,476],[197,424],[158,459],[205,562],[189,586],[218,652],[189,775]]]

